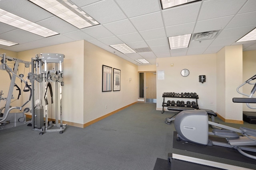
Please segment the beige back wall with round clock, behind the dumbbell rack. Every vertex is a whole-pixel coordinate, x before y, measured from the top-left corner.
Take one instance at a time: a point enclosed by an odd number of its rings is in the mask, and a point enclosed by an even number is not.
[[[158,77],[156,80],[158,110],[162,109],[164,92],[196,92],[200,108],[216,111],[216,54],[158,58],[156,62],[157,75],[158,71],[164,71],[164,80],[158,80]],[[187,77],[180,74],[184,68],[190,71]],[[199,82],[199,75],[206,75],[206,82]],[[166,98],[167,100],[195,101],[186,98]]]

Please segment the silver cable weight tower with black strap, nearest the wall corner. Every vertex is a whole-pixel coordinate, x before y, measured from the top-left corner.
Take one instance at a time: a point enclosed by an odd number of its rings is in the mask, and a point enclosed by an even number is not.
[[[57,131],[63,133],[66,129],[62,124],[62,86],[64,86],[62,67],[64,57],[65,55],[63,54],[42,53],[37,54],[31,61],[32,72],[28,73],[28,79],[32,84],[32,127],[33,130],[40,131],[40,135],[44,134],[44,132]],[[55,69],[50,68],[51,64],[54,64]],[[44,69],[42,69],[43,67]],[[55,95],[53,95],[51,84],[55,84]],[[55,124],[52,121],[48,122],[48,92],[50,92],[51,104],[55,101]],[[59,113],[60,124],[58,123]]]

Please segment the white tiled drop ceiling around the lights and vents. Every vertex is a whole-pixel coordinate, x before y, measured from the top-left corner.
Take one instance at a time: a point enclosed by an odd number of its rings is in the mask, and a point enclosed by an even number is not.
[[[0,39],[18,43],[0,49],[25,51],[86,40],[131,63],[146,59],[217,53],[224,46],[256,50],[256,41],[236,43],[256,27],[256,0],[202,0],[162,10],[160,0],[71,0],[100,24],[78,29],[28,0],[0,0],[0,8],[59,34],[41,37],[0,22]],[[219,30],[213,39],[190,41],[170,50],[168,37]],[[110,45],[125,43],[138,53],[122,54]],[[141,49],[141,50],[138,50]],[[142,49],[147,49],[143,51]]]

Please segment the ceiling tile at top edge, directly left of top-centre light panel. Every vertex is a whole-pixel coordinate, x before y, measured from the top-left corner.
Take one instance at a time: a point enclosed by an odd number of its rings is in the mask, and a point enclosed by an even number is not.
[[[116,0],[126,16],[135,17],[160,11],[159,0]]]

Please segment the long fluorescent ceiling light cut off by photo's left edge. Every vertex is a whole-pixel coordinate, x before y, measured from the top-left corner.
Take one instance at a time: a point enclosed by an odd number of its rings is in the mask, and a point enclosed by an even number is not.
[[[12,25],[25,31],[40,35],[42,37],[50,37],[52,35],[58,34],[48,28],[42,27],[36,23],[25,20],[24,18],[16,16],[2,9],[0,9],[0,22]]]

